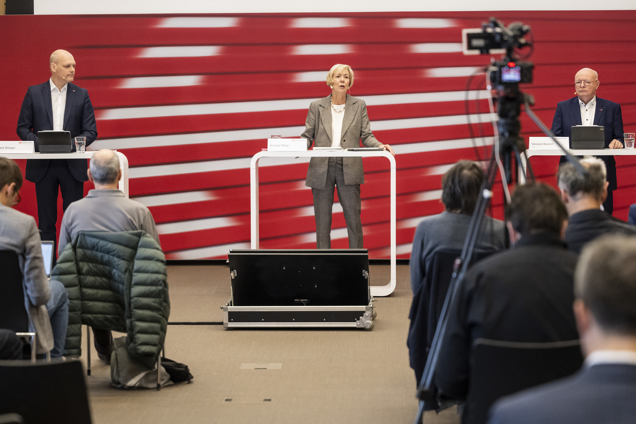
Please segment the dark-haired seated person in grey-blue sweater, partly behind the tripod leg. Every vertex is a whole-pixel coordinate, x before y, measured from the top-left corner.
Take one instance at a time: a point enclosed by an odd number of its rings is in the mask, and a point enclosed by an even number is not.
[[[483,179],[481,167],[469,160],[458,161],[441,178],[441,201],[445,210],[424,218],[417,225],[413,237],[410,270],[414,294],[424,282],[432,253],[440,249],[462,250],[464,247]],[[504,249],[504,237],[504,222],[485,216],[475,249]]]

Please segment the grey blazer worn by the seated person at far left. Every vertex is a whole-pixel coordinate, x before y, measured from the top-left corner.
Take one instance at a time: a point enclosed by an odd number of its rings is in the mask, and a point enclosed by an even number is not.
[[[53,331],[46,311],[51,288],[44,270],[36,220],[31,215],[0,204],[0,250],[13,250],[18,254],[24,306],[29,313],[29,331],[38,333],[37,352],[48,352],[53,348]]]

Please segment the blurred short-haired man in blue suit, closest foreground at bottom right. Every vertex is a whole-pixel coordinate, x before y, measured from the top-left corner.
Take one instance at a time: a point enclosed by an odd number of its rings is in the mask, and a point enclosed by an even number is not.
[[[607,235],[583,248],[574,316],[581,371],[505,397],[492,424],[627,424],[636,420],[636,237]]]

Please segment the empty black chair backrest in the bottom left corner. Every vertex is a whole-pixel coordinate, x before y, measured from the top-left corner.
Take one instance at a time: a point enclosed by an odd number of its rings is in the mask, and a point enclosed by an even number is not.
[[[0,362],[0,414],[25,423],[90,424],[81,362]]]

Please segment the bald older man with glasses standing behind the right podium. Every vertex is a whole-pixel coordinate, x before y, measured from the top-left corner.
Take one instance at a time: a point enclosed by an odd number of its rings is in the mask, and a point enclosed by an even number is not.
[[[571,137],[574,125],[600,125],[605,127],[605,148],[623,148],[623,116],[621,106],[596,96],[598,74],[590,68],[583,68],[574,76],[576,97],[564,100],[556,105],[555,117],[552,120],[552,132],[557,137]],[[570,147],[572,145],[570,144]],[[616,190],[616,160],[614,156],[600,156],[607,168],[607,199],[603,209],[608,214],[614,210],[613,191]],[[565,156],[560,163],[565,162]]]

